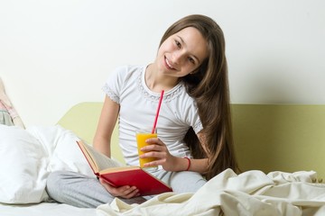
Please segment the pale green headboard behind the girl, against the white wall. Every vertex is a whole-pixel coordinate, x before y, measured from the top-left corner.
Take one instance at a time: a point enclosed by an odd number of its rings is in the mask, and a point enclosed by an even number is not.
[[[78,103],[58,122],[92,143],[102,103]],[[314,170],[325,176],[325,105],[232,104],[237,159],[242,171]],[[123,161],[117,130],[113,157]]]

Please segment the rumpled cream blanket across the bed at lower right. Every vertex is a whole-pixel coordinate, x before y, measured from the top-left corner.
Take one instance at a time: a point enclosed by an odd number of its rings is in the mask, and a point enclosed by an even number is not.
[[[225,170],[197,193],[163,193],[140,205],[118,199],[98,207],[99,215],[325,215],[325,184],[315,172],[268,175]]]

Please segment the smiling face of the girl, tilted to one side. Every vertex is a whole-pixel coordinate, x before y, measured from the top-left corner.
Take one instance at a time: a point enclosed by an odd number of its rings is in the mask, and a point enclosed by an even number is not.
[[[165,76],[186,76],[208,57],[207,41],[200,31],[188,27],[176,32],[158,49],[156,63]]]

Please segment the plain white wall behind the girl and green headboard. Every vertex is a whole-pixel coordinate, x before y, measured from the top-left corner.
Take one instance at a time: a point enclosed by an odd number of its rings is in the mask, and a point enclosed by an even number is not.
[[[25,124],[52,125],[102,101],[122,64],[153,61],[163,32],[206,14],[227,40],[232,103],[325,103],[322,0],[0,2],[0,76]]]

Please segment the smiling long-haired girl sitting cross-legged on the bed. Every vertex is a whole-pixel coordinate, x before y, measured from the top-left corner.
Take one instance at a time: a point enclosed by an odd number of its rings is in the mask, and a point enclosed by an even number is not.
[[[225,40],[209,17],[194,14],[173,23],[152,64],[116,68],[103,90],[106,98],[94,147],[107,157],[118,121],[126,164],[138,165],[135,130],[152,126],[164,90],[158,138],[147,139],[152,145],[143,148],[142,157],[156,157],[145,166],[160,167],[150,172],[175,193],[187,193],[196,192],[226,168],[237,170]],[[97,207],[115,197],[144,201],[135,186],[116,188],[102,179],[70,172],[52,173],[47,191],[56,201],[79,207]]]

